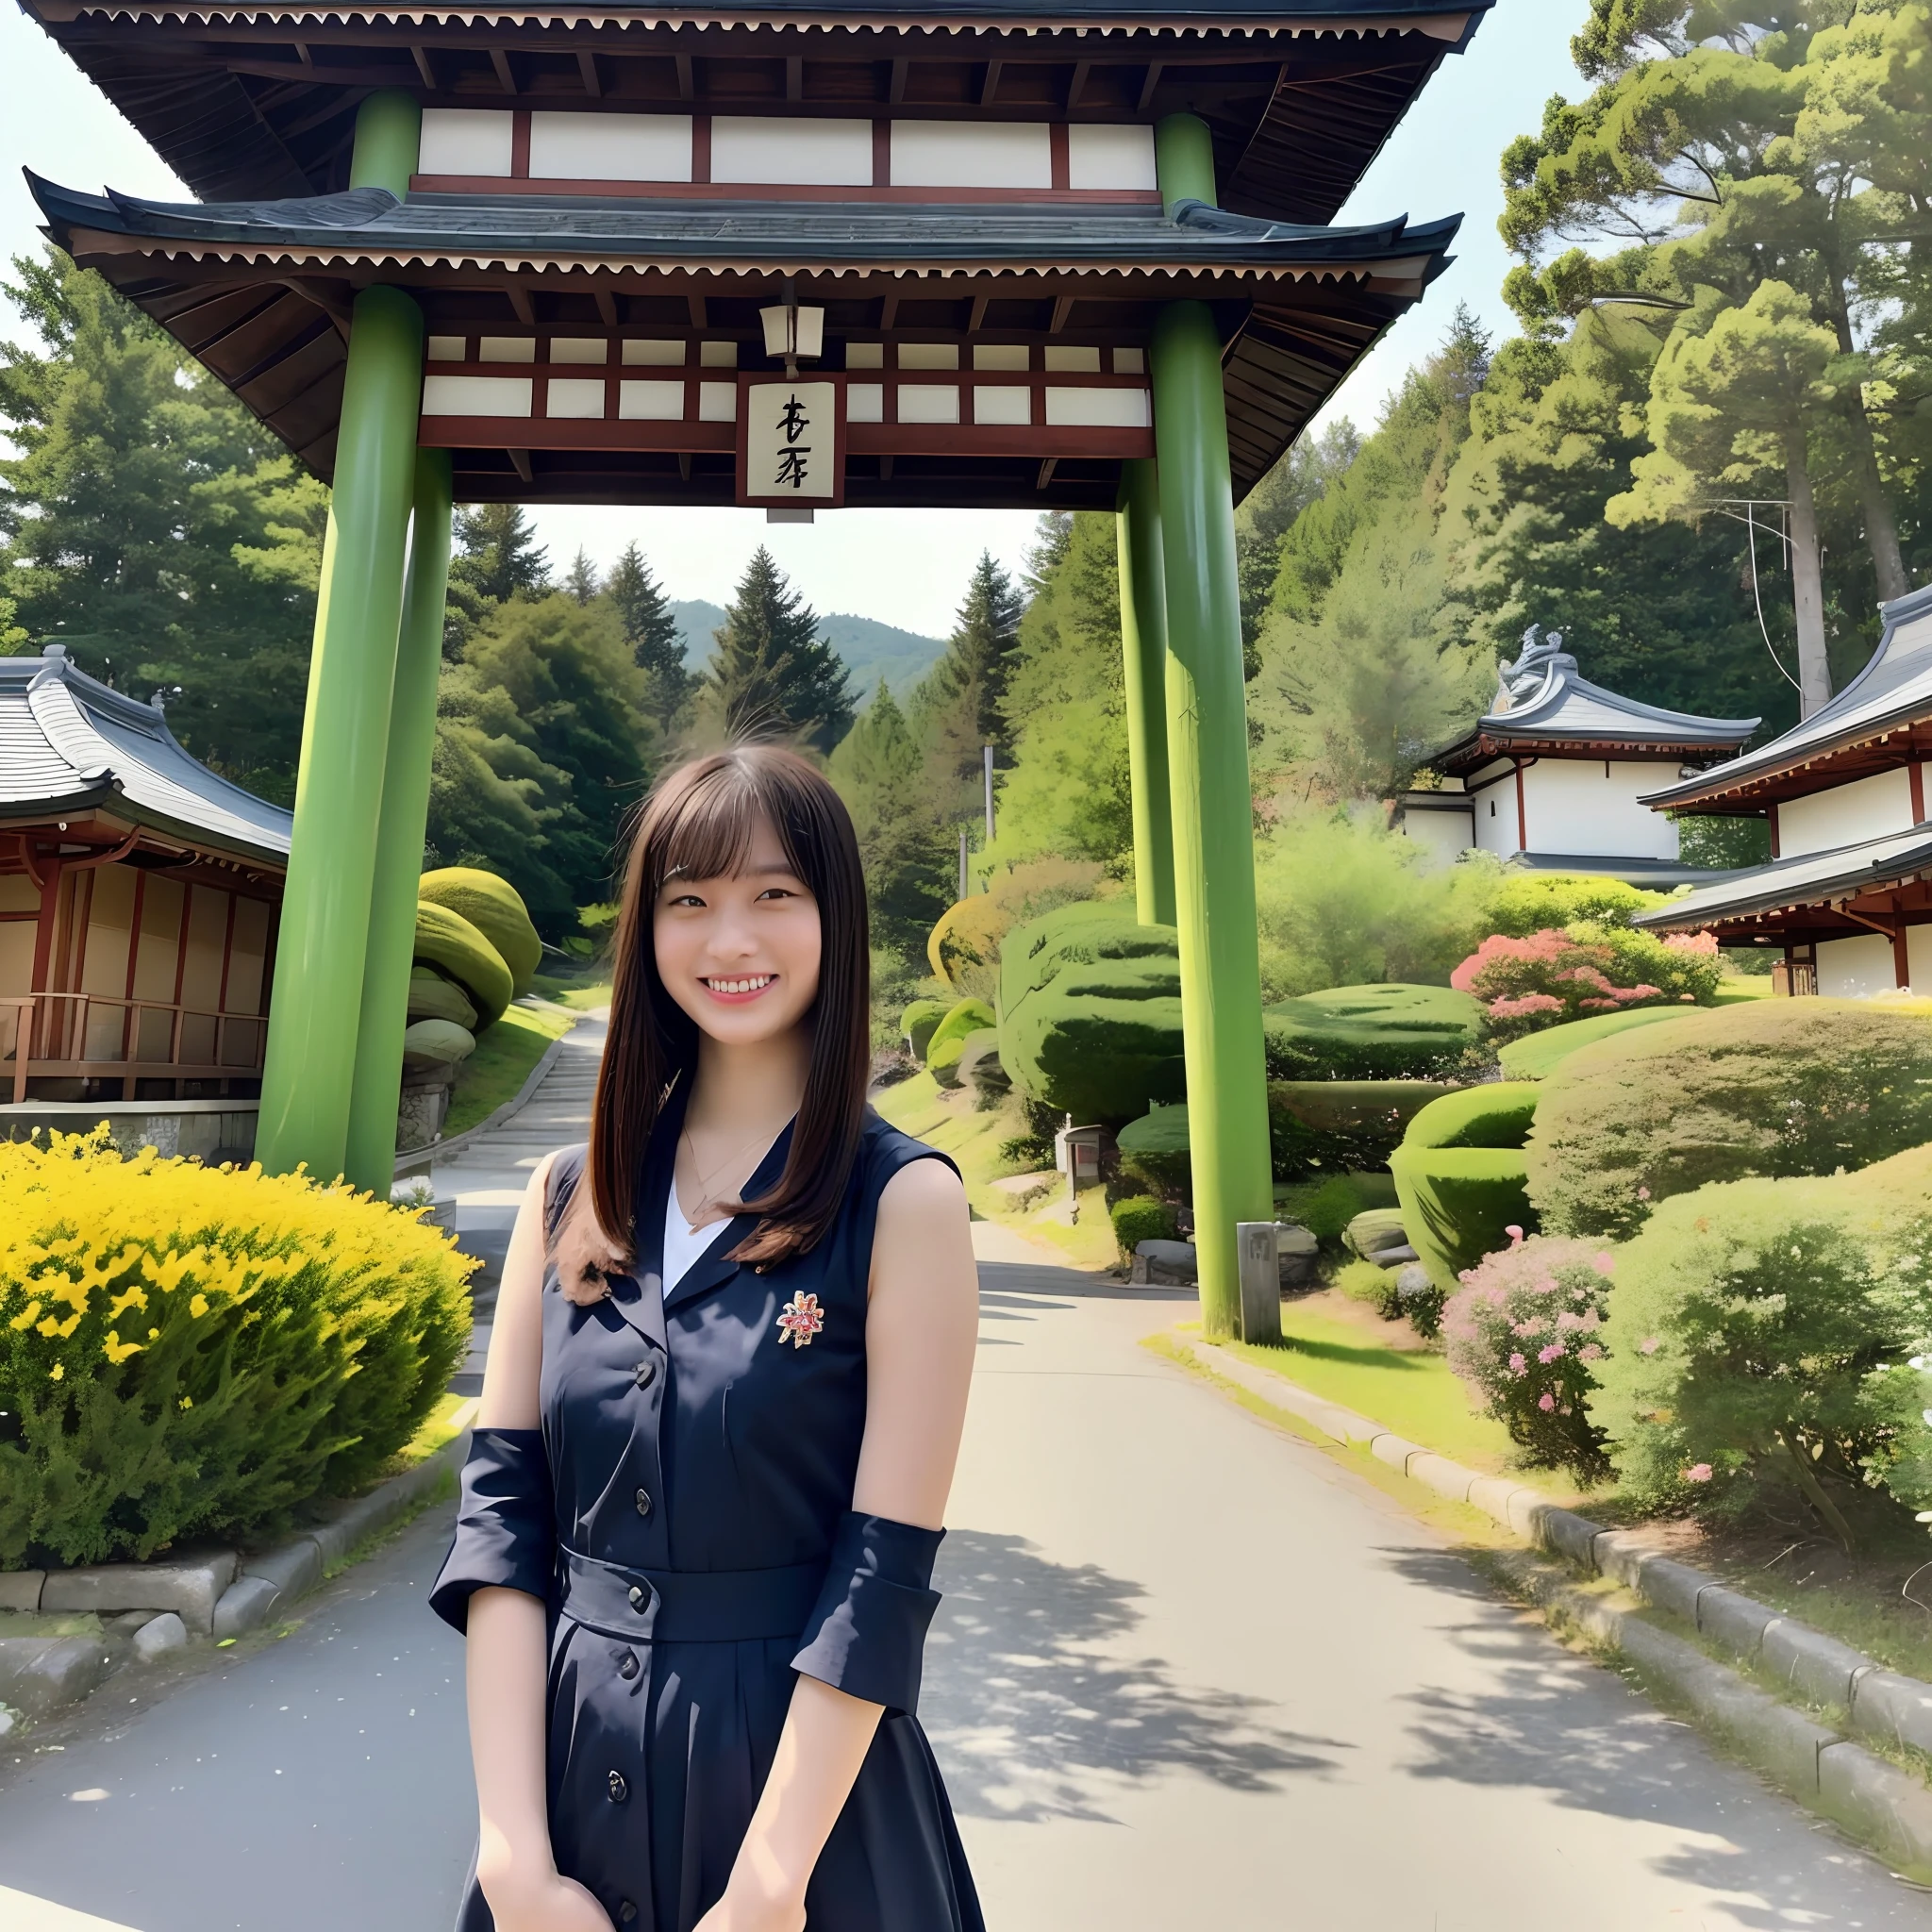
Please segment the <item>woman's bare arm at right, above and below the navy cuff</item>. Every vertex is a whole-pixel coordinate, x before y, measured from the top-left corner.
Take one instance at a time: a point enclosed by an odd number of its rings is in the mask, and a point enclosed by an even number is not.
[[[879,1196],[866,1316],[866,1439],[852,1507],[937,1530],[966,1426],[980,1275],[966,1190],[943,1161],[902,1167]],[[852,1793],[883,1704],[800,1675],[724,1897],[697,1932],[798,1932],[806,1884]]]

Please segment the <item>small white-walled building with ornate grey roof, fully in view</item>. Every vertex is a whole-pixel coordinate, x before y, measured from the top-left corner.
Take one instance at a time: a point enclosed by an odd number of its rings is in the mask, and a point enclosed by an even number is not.
[[[1490,709],[1430,759],[1439,788],[1403,794],[1401,825],[1443,858],[1493,852],[1534,871],[1696,885],[1712,875],[1681,862],[1677,821],[1646,794],[1733,757],[1758,723],[1621,697],[1532,624]]]

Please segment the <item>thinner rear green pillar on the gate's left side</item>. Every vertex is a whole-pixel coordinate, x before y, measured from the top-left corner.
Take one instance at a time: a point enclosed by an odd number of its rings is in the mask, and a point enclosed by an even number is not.
[[[423,877],[429,761],[437,750],[437,678],[442,670],[442,599],[450,585],[450,452],[415,452],[410,574],[402,589],[396,688],[388,709],[388,763],[369,893],[369,951],[344,1173],[386,1200],[396,1179],[396,1095],[402,1030],[415,956],[415,887]]]

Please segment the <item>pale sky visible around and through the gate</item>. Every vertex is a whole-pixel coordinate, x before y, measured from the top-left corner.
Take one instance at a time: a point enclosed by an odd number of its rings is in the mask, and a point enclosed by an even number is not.
[[[1457,261],[1428,299],[1397,325],[1343,386],[1327,413],[1370,425],[1408,365],[1441,338],[1457,301],[1497,338],[1513,332],[1501,284],[1509,257],[1495,234],[1503,143],[1542,122],[1551,93],[1582,83],[1569,37],[1588,0],[1497,0],[1468,54],[1443,62],[1432,87],[1378,156],[1343,222],[1406,213],[1435,220],[1463,213]],[[187,189],[141,137],[81,79],[17,8],[0,4],[0,253],[39,245],[37,211],[19,178],[31,166],[68,187],[106,184],[128,193]],[[12,311],[0,330],[19,332]],[[724,603],[746,558],[767,543],[819,611],[854,611],[906,630],[945,636],[981,549],[1018,564],[1032,537],[1024,510],[837,510],[811,527],[767,526],[759,510],[553,508],[535,518],[553,562],[578,545],[599,564],[634,537],[670,597]]]

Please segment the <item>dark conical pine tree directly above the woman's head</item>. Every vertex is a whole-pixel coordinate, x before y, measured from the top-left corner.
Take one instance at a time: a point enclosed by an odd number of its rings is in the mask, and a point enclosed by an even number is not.
[[[800,738],[819,752],[852,723],[844,663],[763,545],[724,611],[699,709],[713,736]]]

